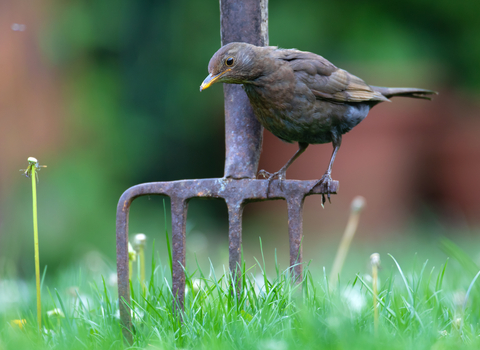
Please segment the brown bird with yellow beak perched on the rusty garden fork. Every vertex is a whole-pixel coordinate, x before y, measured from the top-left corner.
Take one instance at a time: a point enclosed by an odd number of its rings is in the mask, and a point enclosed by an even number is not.
[[[275,177],[285,179],[288,167],[309,144],[332,142],[330,164],[315,185],[328,189],[342,135],[365,119],[370,108],[393,96],[429,100],[429,95],[436,94],[416,88],[370,86],[314,53],[239,42],[220,48],[210,59],[208,72],[200,91],[214,83],[243,84],[265,129],[286,142],[298,142],[298,151],[279,171],[260,170],[259,175],[268,177],[269,186]],[[330,193],[327,196],[330,201]]]

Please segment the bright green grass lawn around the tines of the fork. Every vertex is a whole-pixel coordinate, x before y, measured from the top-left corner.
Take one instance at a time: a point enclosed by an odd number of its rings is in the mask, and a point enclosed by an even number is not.
[[[255,278],[254,270],[243,266],[237,294],[224,271],[197,269],[187,272],[185,312],[179,314],[172,308],[170,268],[157,258],[148,288],[143,290],[135,277],[132,283],[132,345],[122,340],[115,286],[77,267],[45,283],[42,334],[34,282],[22,288],[21,282],[2,278],[3,298],[12,295],[12,303],[0,304],[0,350],[478,349],[478,268],[453,243],[442,244],[452,257],[443,266],[424,262],[403,271],[394,257],[382,256],[377,333],[368,275],[340,279],[331,288],[328,276],[314,279],[308,264],[297,285],[289,269]],[[256,269],[263,272],[260,261]],[[53,309],[61,309],[64,317],[47,316]],[[12,325],[14,319],[26,319],[22,329]]]

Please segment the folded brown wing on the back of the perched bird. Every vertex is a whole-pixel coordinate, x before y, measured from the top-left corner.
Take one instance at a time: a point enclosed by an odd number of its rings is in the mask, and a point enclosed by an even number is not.
[[[297,79],[306,84],[317,99],[333,102],[388,101],[362,79],[335,67],[322,56],[298,50],[281,51],[278,58],[288,62]]]

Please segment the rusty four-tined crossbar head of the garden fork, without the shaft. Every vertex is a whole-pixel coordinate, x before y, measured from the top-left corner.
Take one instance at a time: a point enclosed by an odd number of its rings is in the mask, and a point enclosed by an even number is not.
[[[321,194],[321,186],[311,188],[316,180],[274,180],[267,198],[267,180],[214,178],[151,182],[133,186],[123,193],[117,207],[117,269],[120,298],[130,302],[128,280],[128,215],[132,201],[147,195],[164,195],[171,199],[172,212],[172,292],[176,302],[183,308],[185,296],[185,230],[188,202],[191,198],[223,198],[228,207],[229,219],[229,267],[234,278],[240,277],[240,254],[242,245],[242,214],[249,202],[285,199],[288,208],[288,233],[290,240],[290,265],[294,266],[295,279],[302,275],[302,211],[306,196]],[[330,192],[335,193],[338,182],[334,181]],[[239,280],[239,279],[238,279]],[[122,321],[130,327],[128,307],[120,303]]]

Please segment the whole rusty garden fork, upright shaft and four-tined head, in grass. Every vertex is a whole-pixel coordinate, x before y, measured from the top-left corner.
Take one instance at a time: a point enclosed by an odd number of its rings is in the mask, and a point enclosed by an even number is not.
[[[221,0],[222,44],[244,41],[268,45],[268,0]],[[135,198],[163,195],[171,199],[172,212],[172,293],[174,307],[183,309],[185,297],[185,229],[188,202],[191,198],[223,198],[229,217],[229,268],[234,278],[240,277],[242,215],[249,202],[284,199],[288,208],[290,265],[295,279],[302,275],[302,211],[305,197],[332,193],[317,180],[257,180],[262,148],[263,128],[255,118],[248,97],[239,85],[224,84],[225,97],[225,172],[223,178],[151,182],[133,186],[120,197],[117,206],[117,273],[120,317],[124,336],[132,339],[130,283],[128,278],[128,215]],[[315,186],[315,187],[314,187]],[[237,279],[237,288],[241,278]]]

